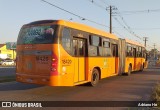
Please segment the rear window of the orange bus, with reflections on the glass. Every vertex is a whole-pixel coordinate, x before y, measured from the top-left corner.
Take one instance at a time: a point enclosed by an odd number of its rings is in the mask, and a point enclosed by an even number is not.
[[[51,44],[55,33],[55,26],[34,26],[21,29],[17,44]]]

